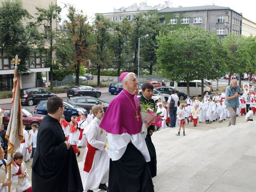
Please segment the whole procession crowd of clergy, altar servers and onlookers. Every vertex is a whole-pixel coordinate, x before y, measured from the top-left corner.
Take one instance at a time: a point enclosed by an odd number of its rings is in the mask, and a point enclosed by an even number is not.
[[[245,115],[252,121],[256,113],[256,94],[254,89],[241,90],[233,79],[219,96],[206,94],[199,101],[187,97],[180,104],[175,90],[172,90],[167,105],[158,99],[154,106],[153,85],[145,82],[141,86],[142,95],[138,99],[138,81],[134,73],[124,72],[120,76],[123,90],[109,104],[106,113],[101,105],[95,105],[87,118],[79,117],[65,120],[64,103],[60,97],[51,97],[47,102],[48,114],[41,121],[40,129],[32,124],[29,133],[23,131],[23,141],[12,157],[11,181],[7,180],[5,152],[5,130],[0,124],[0,192],[93,192],[107,191],[153,192],[152,178],[157,175],[156,149],[151,140],[156,128],[149,121],[142,120],[141,105],[150,104],[149,109],[161,118],[163,130],[179,127],[176,136],[185,136],[185,125],[192,123],[221,123],[226,118]],[[252,85],[253,86],[253,85]],[[129,112],[129,113],[127,113]],[[231,124],[235,121],[230,120]],[[146,132],[143,131],[146,127]],[[24,127],[25,128],[25,127]],[[30,143],[29,143],[30,141]],[[108,146],[108,147],[107,147]],[[76,160],[85,147],[83,171],[79,172]],[[29,155],[31,150],[31,156]],[[25,162],[33,159],[32,185],[28,182]],[[106,185],[108,183],[108,186]]]

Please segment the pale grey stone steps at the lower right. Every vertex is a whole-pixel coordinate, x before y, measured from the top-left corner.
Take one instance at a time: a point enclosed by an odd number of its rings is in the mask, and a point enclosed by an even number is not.
[[[256,122],[209,131],[178,128],[153,134],[156,192],[256,191]],[[183,132],[181,132],[183,133]]]

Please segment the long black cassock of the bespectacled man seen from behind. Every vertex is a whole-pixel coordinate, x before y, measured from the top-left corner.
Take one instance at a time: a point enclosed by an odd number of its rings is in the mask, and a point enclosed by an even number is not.
[[[82,180],[72,147],[66,149],[65,135],[57,119],[47,115],[37,134],[32,165],[33,192],[82,192]]]

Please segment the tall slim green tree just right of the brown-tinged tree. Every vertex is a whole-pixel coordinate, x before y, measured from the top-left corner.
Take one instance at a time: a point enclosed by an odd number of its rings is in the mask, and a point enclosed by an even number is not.
[[[109,65],[112,59],[112,53],[109,49],[111,23],[102,14],[95,14],[93,25],[97,41],[95,54],[95,64],[98,70],[97,85],[100,86],[100,69],[104,65]]]

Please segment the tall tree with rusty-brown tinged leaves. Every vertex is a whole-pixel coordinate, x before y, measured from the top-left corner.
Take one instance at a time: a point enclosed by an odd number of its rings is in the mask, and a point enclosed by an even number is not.
[[[95,45],[92,43],[93,28],[89,25],[88,18],[80,13],[74,6],[68,4],[68,20],[65,21],[66,28],[68,29],[68,38],[74,46],[72,55],[72,67],[75,68],[76,84],[79,85],[79,69],[82,64],[84,67],[88,58],[92,55]],[[71,49],[69,49],[70,51]]]

